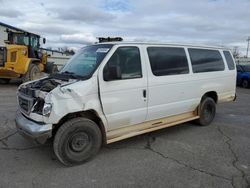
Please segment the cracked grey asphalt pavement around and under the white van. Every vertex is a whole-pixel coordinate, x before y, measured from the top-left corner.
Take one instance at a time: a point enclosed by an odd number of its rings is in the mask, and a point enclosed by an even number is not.
[[[17,134],[18,83],[0,85],[0,188],[250,187],[250,89],[217,106],[213,123],[192,122],[103,146],[91,161],[64,167],[52,143]]]

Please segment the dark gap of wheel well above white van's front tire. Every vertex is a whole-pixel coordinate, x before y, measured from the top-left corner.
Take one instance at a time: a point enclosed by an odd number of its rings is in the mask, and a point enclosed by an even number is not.
[[[57,130],[60,128],[60,126],[63,123],[65,123],[69,119],[73,119],[73,118],[76,118],[76,117],[86,117],[86,118],[89,118],[92,121],[94,121],[98,125],[99,129],[101,130],[103,143],[106,143],[106,131],[105,131],[105,127],[104,127],[104,125],[102,123],[101,118],[97,115],[97,112],[95,110],[87,110],[87,111],[75,112],[75,113],[67,114],[66,116],[64,116],[59,121],[59,123],[57,123],[57,124],[54,125],[52,136],[55,136]]]

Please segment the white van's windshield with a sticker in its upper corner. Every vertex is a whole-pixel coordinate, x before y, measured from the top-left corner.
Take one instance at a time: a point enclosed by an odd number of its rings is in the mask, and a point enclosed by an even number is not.
[[[60,71],[81,77],[90,77],[112,48],[112,44],[87,46],[78,51]]]

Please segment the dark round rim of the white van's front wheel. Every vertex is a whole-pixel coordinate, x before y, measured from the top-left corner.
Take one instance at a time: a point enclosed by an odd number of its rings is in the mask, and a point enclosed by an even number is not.
[[[77,132],[69,139],[69,148],[73,152],[82,152],[90,144],[90,139],[87,133]]]

